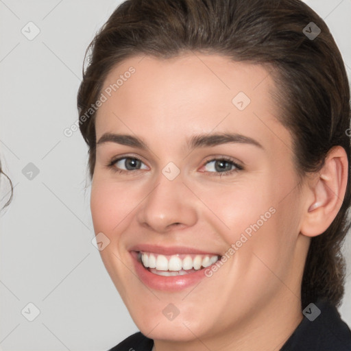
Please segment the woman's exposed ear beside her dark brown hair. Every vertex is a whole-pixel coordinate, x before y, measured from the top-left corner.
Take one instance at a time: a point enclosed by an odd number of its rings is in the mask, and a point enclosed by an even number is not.
[[[316,237],[326,231],[341,208],[347,182],[348,156],[343,147],[332,147],[324,167],[308,181],[302,234]]]

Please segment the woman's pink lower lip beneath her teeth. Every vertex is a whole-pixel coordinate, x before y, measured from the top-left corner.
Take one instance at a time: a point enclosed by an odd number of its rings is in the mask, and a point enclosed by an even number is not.
[[[205,269],[199,269],[193,273],[184,274],[184,276],[158,276],[146,269],[141,262],[138,261],[138,253],[131,252],[136,274],[141,281],[148,287],[161,291],[180,291],[195,285],[200,280],[206,278]],[[208,268],[208,267],[206,267]]]

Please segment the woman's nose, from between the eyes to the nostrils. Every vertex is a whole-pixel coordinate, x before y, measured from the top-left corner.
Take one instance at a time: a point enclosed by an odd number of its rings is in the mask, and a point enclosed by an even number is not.
[[[196,208],[196,201],[180,175],[169,180],[160,173],[153,190],[138,206],[136,219],[144,228],[166,233],[193,226],[197,222]]]

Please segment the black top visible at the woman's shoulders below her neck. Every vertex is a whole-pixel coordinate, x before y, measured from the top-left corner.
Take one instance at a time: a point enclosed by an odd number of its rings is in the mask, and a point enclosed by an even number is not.
[[[351,331],[337,308],[326,300],[308,306],[304,309],[304,319],[280,351],[351,351]],[[315,306],[320,311],[317,317],[319,311]],[[152,339],[136,332],[109,351],[151,351],[152,346]]]

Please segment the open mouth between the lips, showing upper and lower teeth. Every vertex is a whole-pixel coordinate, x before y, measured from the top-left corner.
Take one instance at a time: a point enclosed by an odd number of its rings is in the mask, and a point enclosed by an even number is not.
[[[158,276],[184,276],[213,265],[221,258],[214,254],[162,255],[138,252],[138,261],[145,269]]]

